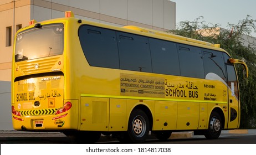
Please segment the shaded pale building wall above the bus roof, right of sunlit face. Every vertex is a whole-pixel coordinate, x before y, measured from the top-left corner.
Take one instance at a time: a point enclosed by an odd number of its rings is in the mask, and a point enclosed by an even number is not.
[[[167,0],[34,0],[32,3],[32,18],[38,22],[63,17],[70,10],[77,18],[95,22],[157,30],[176,28],[176,3]]]

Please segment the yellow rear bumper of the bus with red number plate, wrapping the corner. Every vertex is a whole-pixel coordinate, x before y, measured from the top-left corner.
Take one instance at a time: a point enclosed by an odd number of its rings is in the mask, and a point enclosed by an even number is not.
[[[12,112],[12,124],[14,130],[23,131],[62,131],[78,130],[78,100],[64,100],[69,102],[68,110],[63,107],[58,108],[62,111],[49,113],[36,112]],[[72,103],[72,104],[71,104]],[[49,110],[50,111],[50,110]],[[18,114],[18,115],[17,115]],[[24,114],[24,116],[22,116]],[[30,115],[28,115],[30,114]],[[38,115],[37,115],[38,114]]]

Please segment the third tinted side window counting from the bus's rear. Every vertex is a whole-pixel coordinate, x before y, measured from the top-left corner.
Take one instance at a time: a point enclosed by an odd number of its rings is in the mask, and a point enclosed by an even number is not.
[[[153,73],[180,75],[176,44],[149,38]]]

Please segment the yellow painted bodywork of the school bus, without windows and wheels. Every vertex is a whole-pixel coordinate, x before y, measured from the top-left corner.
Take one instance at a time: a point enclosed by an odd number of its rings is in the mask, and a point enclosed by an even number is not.
[[[226,53],[216,45],[157,34],[160,32],[154,30],[119,28],[73,17],[39,23],[64,25],[63,54],[21,62],[16,62],[13,56],[15,130],[127,131],[130,113],[135,108],[147,113],[151,131],[207,130],[214,110],[221,112],[224,130],[239,127],[239,100],[235,96],[228,97],[232,90],[222,81],[90,66],[81,49],[78,29],[83,24],[94,25]],[[22,28],[17,34],[34,26]],[[16,41],[14,53],[15,49]],[[33,76],[35,74],[37,76]],[[229,100],[233,100],[238,114],[234,121],[229,121]],[[70,110],[56,114],[66,102],[71,102]],[[16,112],[21,114],[17,116]]]

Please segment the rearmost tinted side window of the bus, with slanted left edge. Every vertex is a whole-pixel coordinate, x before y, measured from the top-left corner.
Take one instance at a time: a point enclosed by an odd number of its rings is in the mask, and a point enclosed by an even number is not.
[[[114,30],[83,25],[79,28],[81,47],[91,66],[119,69]]]

